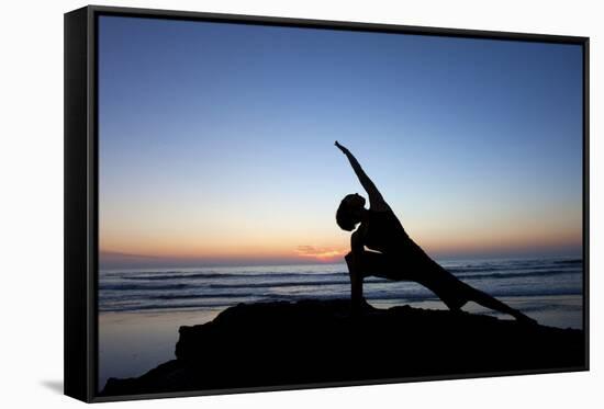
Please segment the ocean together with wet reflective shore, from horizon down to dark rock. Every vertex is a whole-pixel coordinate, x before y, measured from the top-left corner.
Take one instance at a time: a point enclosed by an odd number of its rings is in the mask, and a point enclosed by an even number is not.
[[[469,285],[539,323],[582,328],[583,262],[579,258],[439,260]],[[349,297],[346,264],[105,270],[99,273],[99,387],[109,376],[137,376],[174,359],[178,328],[203,323],[239,303]],[[365,281],[378,308],[446,309],[427,288],[377,277]],[[510,317],[468,304],[465,310]]]

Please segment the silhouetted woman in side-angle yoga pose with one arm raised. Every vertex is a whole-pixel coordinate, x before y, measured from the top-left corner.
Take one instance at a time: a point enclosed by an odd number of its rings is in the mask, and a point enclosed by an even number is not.
[[[486,308],[508,314],[517,320],[536,322],[517,309],[461,282],[432,260],[407,236],[401,221],[353,154],[337,141],[335,145],[346,155],[369,195],[369,209],[365,208],[365,198],[355,193],[344,197],[336,213],[336,221],[344,230],[353,231],[360,223],[350,238],[351,251],[345,257],[350,274],[353,306],[356,309],[365,304],[362,281],[372,275],[420,283],[436,294],[451,310],[459,310],[466,303],[476,302]],[[367,251],[365,247],[374,251]]]

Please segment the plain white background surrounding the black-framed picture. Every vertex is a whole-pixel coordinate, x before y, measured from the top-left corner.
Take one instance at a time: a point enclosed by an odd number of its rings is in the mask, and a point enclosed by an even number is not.
[[[604,397],[602,73],[596,1],[99,1],[108,5],[591,37],[592,371],[137,401],[125,407],[596,407]],[[0,24],[0,406],[75,407],[63,388],[63,13],[82,1],[10,1]],[[370,353],[370,351],[368,351]]]

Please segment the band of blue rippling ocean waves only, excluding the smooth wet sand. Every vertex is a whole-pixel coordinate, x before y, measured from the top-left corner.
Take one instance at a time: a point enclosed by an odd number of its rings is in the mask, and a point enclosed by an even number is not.
[[[581,259],[465,260],[441,265],[494,297],[582,294]],[[101,313],[227,308],[238,303],[343,298],[350,292],[345,264],[101,271],[99,279]],[[378,277],[365,283],[366,298],[378,304],[435,299],[416,283]]]

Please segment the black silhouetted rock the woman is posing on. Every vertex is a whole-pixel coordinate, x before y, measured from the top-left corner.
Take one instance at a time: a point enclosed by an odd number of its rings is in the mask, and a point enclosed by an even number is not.
[[[102,395],[378,383],[422,377],[581,370],[581,330],[348,300],[239,304],[181,327],[176,356]]]

